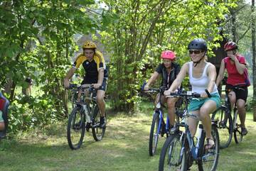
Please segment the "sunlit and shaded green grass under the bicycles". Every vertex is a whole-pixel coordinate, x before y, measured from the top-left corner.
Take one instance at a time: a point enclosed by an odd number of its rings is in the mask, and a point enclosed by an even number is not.
[[[13,140],[0,142],[1,170],[157,170],[165,138],[160,138],[154,157],[149,157],[148,142],[152,107],[143,114],[118,114],[108,118],[105,138],[95,142],[85,134],[79,150],[70,150],[66,140],[66,121],[42,130],[22,133]],[[247,114],[249,133],[240,144],[234,140],[220,150],[218,170],[256,170],[256,126]],[[197,167],[194,170],[197,170]]]

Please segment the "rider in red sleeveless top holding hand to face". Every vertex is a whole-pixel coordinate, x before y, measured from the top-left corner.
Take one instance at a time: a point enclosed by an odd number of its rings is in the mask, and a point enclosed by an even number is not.
[[[236,103],[241,121],[241,134],[245,136],[247,134],[247,129],[245,128],[245,103],[248,95],[248,80],[246,80],[247,76],[245,75],[245,72],[247,73],[246,61],[245,57],[238,54],[238,45],[235,42],[230,41],[225,43],[224,49],[227,52],[228,57],[225,57],[221,61],[216,84],[217,86],[220,84],[223,79],[224,72],[227,70],[228,79],[225,89],[229,92],[228,96],[232,108]],[[234,86],[239,86],[240,89],[233,89]]]

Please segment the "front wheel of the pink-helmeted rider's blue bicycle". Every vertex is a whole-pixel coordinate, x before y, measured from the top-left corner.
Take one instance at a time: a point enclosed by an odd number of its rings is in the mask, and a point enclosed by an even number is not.
[[[161,126],[161,125],[160,125]],[[153,156],[156,153],[157,143],[159,140],[159,133],[157,133],[159,127],[159,112],[155,111],[151,123],[149,133],[149,155]],[[161,128],[160,128],[161,131]]]

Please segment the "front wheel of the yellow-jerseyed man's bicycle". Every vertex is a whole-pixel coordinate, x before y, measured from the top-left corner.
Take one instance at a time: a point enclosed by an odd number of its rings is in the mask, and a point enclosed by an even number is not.
[[[67,139],[72,150],[77,150],[82,145],[85,136],[85,114],[76,106],[68,117]]]

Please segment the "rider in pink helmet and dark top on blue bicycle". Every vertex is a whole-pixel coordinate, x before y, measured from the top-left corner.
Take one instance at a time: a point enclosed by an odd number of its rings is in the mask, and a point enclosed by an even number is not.
[[[161,53],[161,59],[163,62],[158,65],[153,75],[151,75],[149,81],[145,84],[144,90],[149,90],[149,86],[153,84],[156,79],[161,75],[161,88],[169,89],[171,84],[176,79],[178,72],[181,70],[180,65],[174,62],[176,55],[171,50],[165,50]],[[161,99],[164,102],[167,102],[169,121],[171,124],[171,128],[175,123],[175,103],[178,100],[177,98],[165,98]],[[159,102],[159,94],[156,96],[156,104]]]

